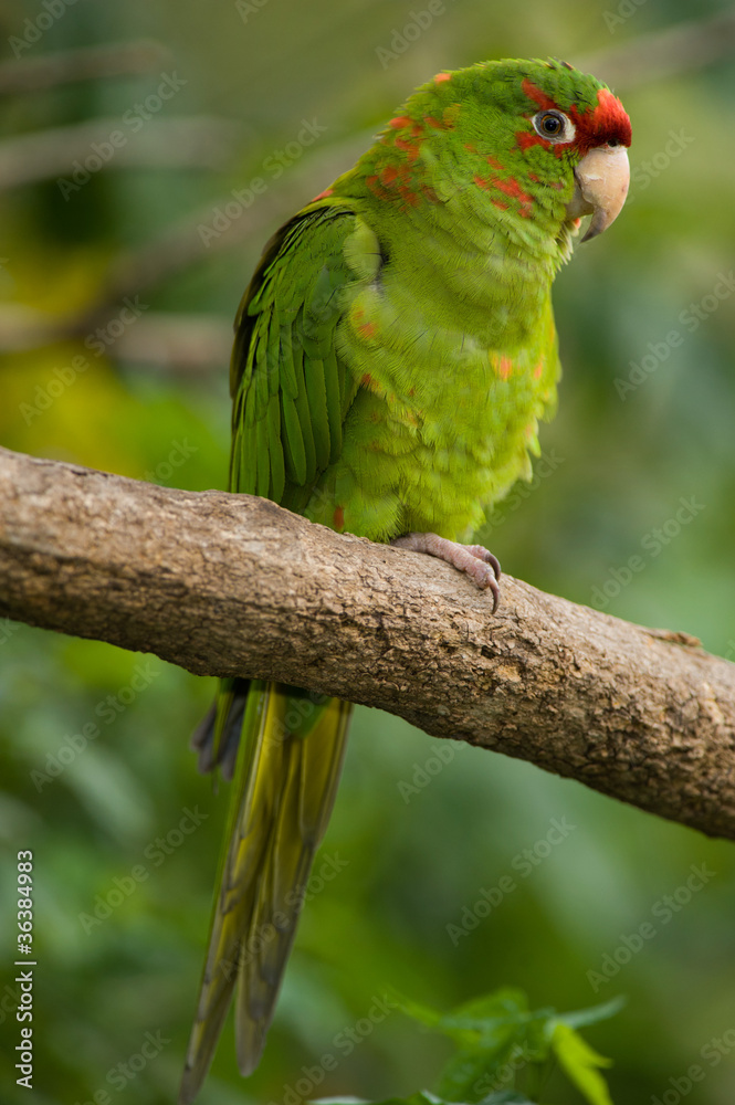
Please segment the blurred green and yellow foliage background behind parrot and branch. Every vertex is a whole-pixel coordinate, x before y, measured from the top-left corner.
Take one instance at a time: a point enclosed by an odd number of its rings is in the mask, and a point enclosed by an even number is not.
[[[543,429],[537,480],[498,507],[490,540],[539,588],[732,657],[732,10],[444,0],[417,33],[423,11],[423,0],[9,0],[0,442],[223,486],[230,325],[270,234],[438,70],[561,56],[623,98],[631,196],[557,280],[559,414]],[[82,49],[92,53],[64,60]],[[678,526],[681,498],[696,508]],[[644,570],[621,583],[637,555]],[[0,624],[3,1101],[174,1101],[227,804],[187,748],[212,688],[156,657]],[[98,736],[82,748],[91,722]],[[447,764],[422,785],[440,749]],[[574,830],[524,876],[515,857],[563,818]],[[32,1093],[12,1069],[18,849],[35,864]],[[314,884],[264,1061],[240,1080],[228,1025],[203,1105],[431,1086],[447,1045],[397,1012],[365,1031],[376,999],[392,986],[448,1007],[507,983],[558,1009],[628,994],[586,1032],[615,1060],[617,1105],[671,1105],[692,1064],[705,1077],[687,1101],[735,1101],[729,844],[358,709],[323,856],[346,864]],[[692,864],[715,874],[664,922],[660,903],[686,898]],[[508,874],[513,892],[452,939],[447,926]],[[95,917],[101,903],[108,916]],[[595,992],[589,972],[645,922],[655,937]],[[336,1042],[347,1029],[349,1054]],[[294,1088],[328,1052],[336,1070]],[[580,1101],[560,1078],[549,1099]]]

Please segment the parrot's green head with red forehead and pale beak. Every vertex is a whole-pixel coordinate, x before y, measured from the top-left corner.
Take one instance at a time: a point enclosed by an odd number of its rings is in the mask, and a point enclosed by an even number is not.
[[[617,218],[628,192],[630,119],[609,88],[567,62],[492,61],[439,73],[390,126],[384,143],[405,150],[409,164],[414,151],[417,161],[428,155],[442,199],[460,191],[517,241],[567,243],[591,214],[588,241]],[[410,200],[411,180],[397,183]]]

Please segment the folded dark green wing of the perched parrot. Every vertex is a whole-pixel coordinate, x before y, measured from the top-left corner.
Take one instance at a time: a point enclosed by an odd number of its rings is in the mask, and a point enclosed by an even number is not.
[[[353,211],[306,208],[269,242],[235,322],[230,490],[291,505],[342,452],[357,386],[338,356],[345,293],[358,283],[350,239],[379,257]],[[372,239],[372,242],[369,241]],[[359,269],[359,266],[358,266]],[[365,275],[363,278],[365,278]]]

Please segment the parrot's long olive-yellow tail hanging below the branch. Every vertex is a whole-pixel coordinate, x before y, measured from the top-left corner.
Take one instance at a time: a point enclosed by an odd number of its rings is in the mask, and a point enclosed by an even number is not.
[[[195,1099],[207,1074],[235,982],[238,1064],[243,1075],[258,1066],[334,804],[351,709],[283,683],[223,680],[195,734],[200,767],[220,764],[234,778],[179,1105]]]

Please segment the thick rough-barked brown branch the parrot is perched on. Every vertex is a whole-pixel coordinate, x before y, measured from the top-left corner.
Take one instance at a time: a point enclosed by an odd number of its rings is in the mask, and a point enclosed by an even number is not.
[[[735,665],[505,577],[340,536],[266,499],[0,450],[0,614],[280,678],[735,838]]]

